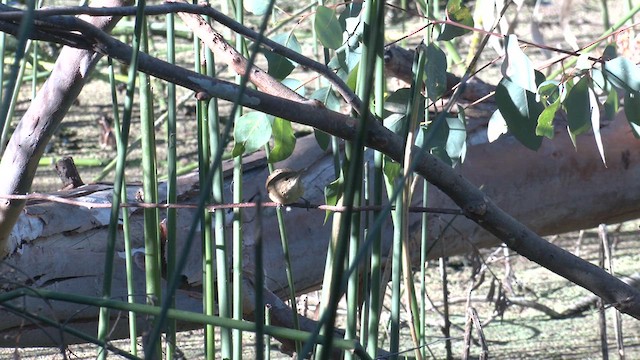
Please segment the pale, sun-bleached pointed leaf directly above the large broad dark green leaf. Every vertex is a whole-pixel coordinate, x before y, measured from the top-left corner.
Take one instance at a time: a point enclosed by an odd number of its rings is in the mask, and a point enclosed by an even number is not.
[[[509,35],[506,41],[506,53],[501,69],[502,76],[527,91],[536,92],[536,75],[533,63],[520,49],[518,37]]]

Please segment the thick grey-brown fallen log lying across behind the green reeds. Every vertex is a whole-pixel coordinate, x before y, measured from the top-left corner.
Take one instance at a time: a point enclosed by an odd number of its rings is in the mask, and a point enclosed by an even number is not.
[[[640,214],[640,189],[635,186],[640,176],[640,148],[633,137],[624,116],[602,128],[607,166],[602,163],[593,139],[581,136],[576,151],[565,134],[555,140],[545,140],[539,151],[533,152],[521,146],[513,138],[504,137],[493,144],[475,144],[468,148],[465,163],[458,171],[515,218],[523,221],[541,235],[550,235],[596,226],[600,223],[616,223],[637,218]],[[247,159],[244,187],[247,198],[253,192],[264,192],[267,177],[266,165],[255,154]],[[282,167],[309,169],[304,175],[305,198],[312,204],[323,202],[323,187],[334,179],[333,163],[321,151],[312,137],[300,139],[296,154],[278,164]],[[180,178],[179,194],[182,203],[195,203],[198,196],[197,174]],[[127,188],[130,201],[135,202],[140,186]],[[160,185],[160,198],[165,198],[164,184]],[[72,199],[83,205],[60,202],[30,201],[20,214],[10,236],[10,255],[0,263],[3,280],[0,295],[7,291],[28,286],[79,295],[99,297],[102,289],[106,224],[109,218],[112,192],[110,185],[93,184],[53,194]],[[228,194],[227,194],[228,195]],[[230,197],[227,197],[230,198]],[[266,196],[262,197],[263,199]],[[420,199],[415,194],[414,199]],[[418,204],[418,200],[415,200]],[[429,207],[454,208],[452,202],[432,188]],[[192,209],[178,211],[178,234],[187,234],[193,221]],[[141,211],[131,211],[133,246],[143,251]],[[274,208],[266,208],[262,216],[264,265],[266,287],[286,298],[288,294],[284,262]],[[255,210],[244,213],[245,238],[244,262],[247,273],[254,256]],[[330,236],[330,224],[324,224],[324,211],[294,207],[285,212],[289,235],[296,292],[302,294],[317,289],[322,282],[322,272]],[[390,220],[384,227],[385,244],[391,240]],[[450,226],[447,226],[447,224]],[[412,243],[417,244],[420,234],[420,214],[412,214],[410,220]],[[435,243],[429,257],[463,254],[474,248],[489,247],[499,241],[473,221],[462,216],[447,214],[429,215],[430,239]],[[199,234],[196,234],[199,236]],[[180,244],[185,239],[178,239]],[[181,251],[182,247],[178,246]],[[201,285],[200,243],[188,249],[188,266],[182,272],[184,286],[177,292],[177,307],[201,311],[199,288]],[[117,249],[124,251],[120,231]],[[416,253],[416,252],[414,252]],[[418,262],[417,258],[413,259]],[[113,279],[113,297],[126,298],[125,265],[122,256],[116,256]],[[142,266],[134,269],[136,297],[141,303],[144,295]],[[43,316],[65,322],[68,326],[95,329],[98,309],[79,308],[78,305],[27,298],[12,304],[30,309]],[[247,309],[252,309],[250,305]],[[250,310],[251,311],[251,310]],[[113,338],[127,336],[127,314],[113,312]],[[248,314],[249,315],[249,314]],[[23,318],[0,309],[0,345],[44,346],[77,342],[78,339],[59,330],[25,321]],[[119,320],[118,320],[119,319]],[[118,320],[118,321],[117,321]],[[148,324],[141,323],[142,329]],[[181,324],[193,328],[197,324]],[[89,330],[91,333],[94,330]]]

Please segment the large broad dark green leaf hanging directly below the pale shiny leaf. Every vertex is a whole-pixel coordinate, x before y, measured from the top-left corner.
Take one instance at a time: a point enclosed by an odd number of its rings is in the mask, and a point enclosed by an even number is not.
[[[535,100],[535,94],[503,78],[496,87],[495,98],[513,136],[529,149],[538,150],[542,137],[536,135],[536,126],[544,107]]]

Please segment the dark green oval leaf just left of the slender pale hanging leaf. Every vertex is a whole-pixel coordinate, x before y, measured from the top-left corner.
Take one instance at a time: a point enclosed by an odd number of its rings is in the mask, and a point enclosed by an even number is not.
[[[564,108],[567,111],[569,131],[573,135],[577,136],[589,130],[592,108],[589,100],[589,79],[586,76],[573,85],[564,100]]]

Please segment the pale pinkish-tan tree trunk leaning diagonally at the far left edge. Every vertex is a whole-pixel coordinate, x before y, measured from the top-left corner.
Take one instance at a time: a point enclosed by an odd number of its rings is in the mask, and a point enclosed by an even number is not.
[[[99,0],[92,6],[124,6],[129,0]],[[119,17],[87,17],[83,20],[110,31]],[[33,182],[38,162],[54,131],[78,97],[101,55],[91,50],[63,47],[51,75],[32,100],[16,126],[0,161],[0,194],[26,194]],[[22,211],[24,201],[0,202],[0,258],[7,249],[11,228]],[[10,246],[10,245],[9,245]]]

